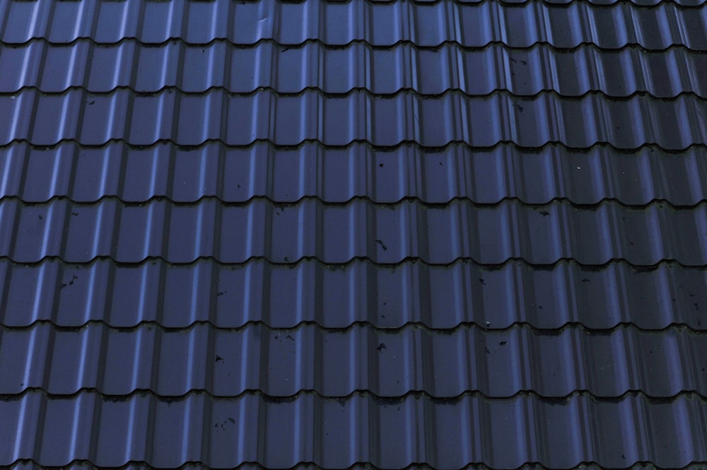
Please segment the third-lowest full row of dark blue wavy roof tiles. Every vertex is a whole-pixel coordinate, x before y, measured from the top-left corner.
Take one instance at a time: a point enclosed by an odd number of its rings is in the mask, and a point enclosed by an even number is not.
[[[361,260],[327,266],[314,260],[228,265],[202,259],[175,266],[154,259],[139,265],[54,259],[26,266],[4,259],[0,276],[6,280],[0,293],[5,327],[105,322],[132,329],[156,322],[183,329],[209,322],[238,329],[262,322],[283,329],[314,322],[327,329],[358,323],[446,330],[464,324],[507,329],[518,323],[537,329],[581,324],[607,330],[629,323],[646,330],[673,324],[707,328],[707,269],[675,263],[636,270],[623,262],[590,268],[518,260],[502,266],[419,261],[376,266]]]

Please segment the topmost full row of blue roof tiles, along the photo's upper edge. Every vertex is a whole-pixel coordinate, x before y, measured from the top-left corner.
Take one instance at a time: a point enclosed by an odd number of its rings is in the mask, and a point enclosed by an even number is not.
[[[43,37],[67,43],[90,38],[114,44],[134,38],[152,44],[184,40],[206,45],[225,39],[253,45],[271,39],[281,45],[318,40],[328,45],[365,41],[375,46],[407,41],[423,47],[444,42],[530,47],[547,42],[555,47],[707,49],[703,1],[634,1],[5,1],[0,4],[0,40],[21,44]]]

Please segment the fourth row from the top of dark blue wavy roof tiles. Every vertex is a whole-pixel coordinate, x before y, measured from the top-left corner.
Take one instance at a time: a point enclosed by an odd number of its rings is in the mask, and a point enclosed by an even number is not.
[[[607,146],[578,152],[563,146],[526,151],[513,145],[470,151],[458,145],[431,153],[418,146],[383,151],[365,143],[347,148],[207,143],[196,149],[124,143],[37,148],[17,143],[0,151],[0,199],[45,202],[64,196],[95,202],[115,196],[126,202],[155,197],[195,202],[214,196],[225,202],[266,197],[292,203],[316,197],[332,203],[415,198],[436,204],[453,199],[496,204],[516,198],[527,204],[615,199],[636,206],[656,200],[693,206],[707,198],[703,154],[703,148],[666,153],[655,146],[628,154]]]

